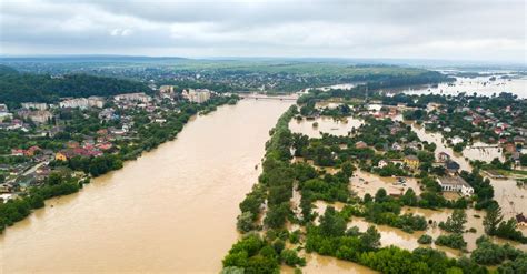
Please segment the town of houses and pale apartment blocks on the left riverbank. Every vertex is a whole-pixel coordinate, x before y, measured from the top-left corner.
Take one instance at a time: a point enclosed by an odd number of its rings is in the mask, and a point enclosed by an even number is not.
[[[13,110],[0,104],[0,202],[23,197],[50,177],[88,183],[173,138],[189,115],[236,101],[229,93],[176,93],[173,85],[161,85],[151,95],[63,98],[54,104],[23,102]]]

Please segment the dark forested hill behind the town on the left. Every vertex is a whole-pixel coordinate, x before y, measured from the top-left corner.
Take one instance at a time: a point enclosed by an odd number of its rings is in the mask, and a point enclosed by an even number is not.
[[[126,92],[149,92],[145,83],[87,74],[50,77],[19,73],[0,65],[0,102],[18,106],[22,102],[57,102],[63,97],[115,95]]]

